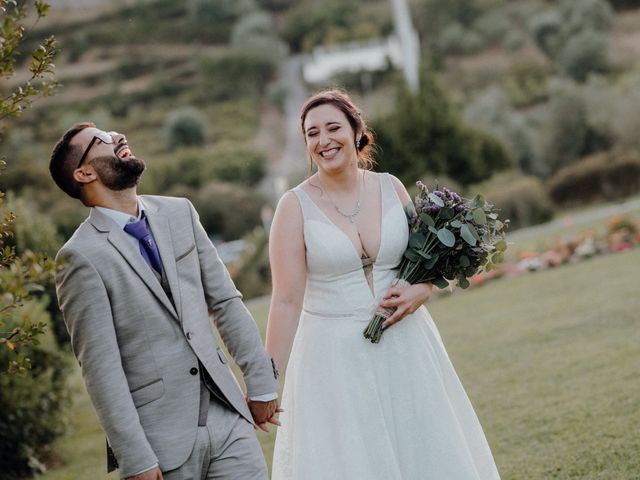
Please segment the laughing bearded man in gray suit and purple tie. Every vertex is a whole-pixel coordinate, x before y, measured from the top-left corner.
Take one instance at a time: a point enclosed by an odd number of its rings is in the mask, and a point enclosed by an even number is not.
[[[266,479],[254,424],[277,424],[277,373],[256,325],[182,198],[138,196],[145,163],[124,135],[79,123],[56,184],[91,208],[62,247],[57,294],[121,478]],[[242,370],[247,398],[209,315]]]

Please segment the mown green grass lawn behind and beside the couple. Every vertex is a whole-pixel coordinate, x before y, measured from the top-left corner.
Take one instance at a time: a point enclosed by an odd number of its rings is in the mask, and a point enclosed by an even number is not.
[[[638,266],[640,249],[429,306],[504,480],[640,478]],[[250,302],[263,332],[267,306]],[[115,479],[77,372],[71,387],[72,429],[57,444],[65,465],[41,478]],[[269,461],[273,433],[258,436]]]

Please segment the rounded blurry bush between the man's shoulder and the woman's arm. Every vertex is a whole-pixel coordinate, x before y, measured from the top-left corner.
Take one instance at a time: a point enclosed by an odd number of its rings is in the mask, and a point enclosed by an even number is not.
[[[236,240],[261,224],[260,211],[266,199],[254,189],[212,181],[193,199],[209,235]]]

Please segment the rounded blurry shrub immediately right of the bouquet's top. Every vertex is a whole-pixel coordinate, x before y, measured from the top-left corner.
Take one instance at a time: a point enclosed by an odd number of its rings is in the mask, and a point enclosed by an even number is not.
[[[543,223],[553,217],[549,197],[536,177],[515,177],[482,193],[500,209],[501,218],[510,220],[510,230]]]

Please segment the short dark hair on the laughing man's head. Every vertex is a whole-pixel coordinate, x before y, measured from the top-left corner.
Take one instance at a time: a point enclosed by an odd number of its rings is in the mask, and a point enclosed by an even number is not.
[[[73,198],[80,199],[80,185],[73,179],[73,172],[80,161],[82,149],[79,146],[70,145],[71,140],[85,128],[95,127],[92,122],[76,123],[58,140],[49,162],[49,172],[56,185]]]

